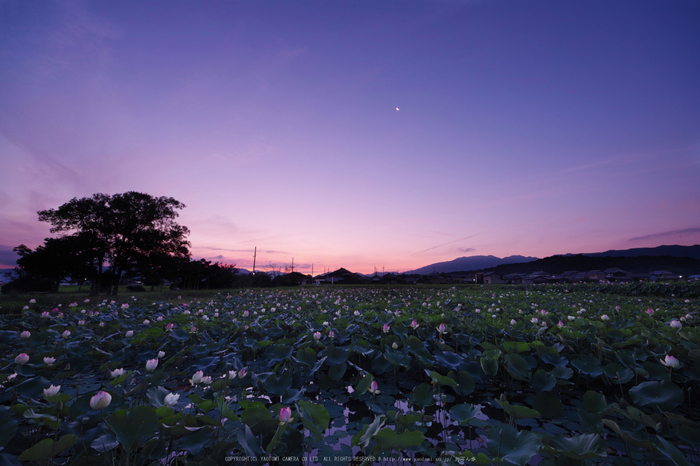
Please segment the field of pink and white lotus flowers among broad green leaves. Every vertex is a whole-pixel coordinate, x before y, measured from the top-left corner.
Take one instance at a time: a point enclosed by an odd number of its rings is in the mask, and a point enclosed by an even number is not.
[[[2,465],[700,464],[695,297],[331,286],[0,319]]]

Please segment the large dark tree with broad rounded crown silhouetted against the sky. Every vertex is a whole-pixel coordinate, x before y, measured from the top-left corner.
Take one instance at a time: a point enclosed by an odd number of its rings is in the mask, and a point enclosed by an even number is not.
[[[111,294],[116,294],[119,281],[126,274],[152,275],[168,260],[189,258],[189,230],[175,222],[177,211],[184,207],[172,197],[129,191],[73,198],[38,215],[40,221],[51,224],[52,233],[65,233],[62,238],[72,238],[56,244],[47,238],[46,244],[78,248],[80,262],[88,264],[91,272],[92,292],[98,293],[107,278]],[[47,246],[42,250],[44,256]],[[30,252],[24,250],[22,258],[29,257]]]

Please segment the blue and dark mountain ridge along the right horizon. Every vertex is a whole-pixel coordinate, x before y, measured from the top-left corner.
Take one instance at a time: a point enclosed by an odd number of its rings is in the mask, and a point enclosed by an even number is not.
[[[614,259],[618,258],[618,259]],[[656,248],[634,248],[610,250],[588,254],[561,254],[539,259],[537,257],[470,256],[452,261],[426,265],[406,274],[431,274],[453,272],[475,272],[496,269],[501,273],[534,272],[562,273],[567,270],[587,271],[620,267],[629,272],[648,271],[647,269],[667,269],[678,273],[700,273],[695,270],[700,261],[700,245],[658,246]],[[625,268],[627,267],[627,268]],[[532,269],[532,270],[530,270]]]

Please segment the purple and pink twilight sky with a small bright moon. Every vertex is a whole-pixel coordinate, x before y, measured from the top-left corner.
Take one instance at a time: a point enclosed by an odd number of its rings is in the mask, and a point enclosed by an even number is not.
[[[0,0],[0,267],[185,203],[302,272],[700,243],[700,2]]]

